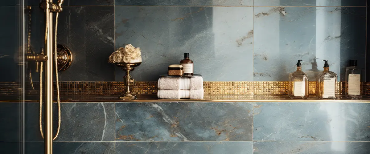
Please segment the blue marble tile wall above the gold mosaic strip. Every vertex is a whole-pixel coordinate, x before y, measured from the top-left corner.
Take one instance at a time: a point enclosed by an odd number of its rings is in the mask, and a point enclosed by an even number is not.
[[[32,6],[31,48],[43,47],[41,0]],[[157,81],[184,52],[204,81],[287,81],[297,59],[315,81],[322,60],[343,81],[349,59],[366,68],[365,0],[66,0],[60,14],[58,43],[70,47],[73,64],[60,81],[122,81],[124,72],[107,62],[116,48],[133,44],[142,49],[142,65],[132,75]],[[1,4],[1,81],[17,81],[14,51],[19,0]],[[8,16],[13,12],[13,16]],[[17,35],[14,35],[17,34]],[[27,68],[34,68],[32,64]],[[26,69],[28,71],[28,69]],[[33,80],[38,81],[33,71]],[[364,74],[366,74],[364,72]],[[28,77],[28,72],[25,72]],[[363,76],[365,78],[365,75]]]

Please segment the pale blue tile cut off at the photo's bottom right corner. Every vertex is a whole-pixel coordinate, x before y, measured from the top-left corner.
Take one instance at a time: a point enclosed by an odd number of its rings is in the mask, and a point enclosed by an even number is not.
[[[253,142],[253,154],[369,154],[369,142]]]

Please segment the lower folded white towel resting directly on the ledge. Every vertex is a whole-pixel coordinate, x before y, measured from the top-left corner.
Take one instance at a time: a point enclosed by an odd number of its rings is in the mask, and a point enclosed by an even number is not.
[[[181,99],[181,98],[190,98],[190,99],[203,99],[204,90],[167,90],[167,89],[158,89],[158,98],[161,99]]]

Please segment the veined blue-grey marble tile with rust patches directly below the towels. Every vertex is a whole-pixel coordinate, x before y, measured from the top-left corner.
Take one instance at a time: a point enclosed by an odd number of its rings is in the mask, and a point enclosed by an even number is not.
[[[116,140],[250,141],[251,111],[245,102],[116,103]]]

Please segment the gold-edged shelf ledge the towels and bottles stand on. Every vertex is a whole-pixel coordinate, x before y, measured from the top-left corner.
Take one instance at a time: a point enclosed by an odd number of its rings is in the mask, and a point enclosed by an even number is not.
[[[287,95],[205,95],[205,99],[158,99],[157,95],[138,95],[136,100],[121,100],[116,95],[62,95],[62,103],[100,103],[100,102],[350,102],[370,103],[370,97],[361,99],[347,99],[339,96],[337,99],[318,99],[311,96],[308,99],[290,99]],[[2,103],[23,102],[14,100],[0,100]],[[25,102],[38,102],[37,97]]]

